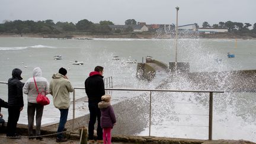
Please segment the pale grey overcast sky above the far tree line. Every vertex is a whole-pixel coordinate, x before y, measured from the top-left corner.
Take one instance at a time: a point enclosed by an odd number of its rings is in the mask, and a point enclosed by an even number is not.
[[[0,0],[0,23],[4,20],[53,20],[93,23],[110,20],[124,24],[135,19],[146,24],[178,25],[204,21],[256,23],[256,0]]]

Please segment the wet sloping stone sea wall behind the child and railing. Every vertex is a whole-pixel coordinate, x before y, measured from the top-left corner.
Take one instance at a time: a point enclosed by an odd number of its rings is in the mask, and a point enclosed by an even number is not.
[[[149,123],[149,94],[140,94],[129,100],[123,100],[113,105],[117,123],[114,126],[113,134],[116,135],[136,135],[142,132]],[[74,128],[82,126],[88,127],[89,114],[75,119]],[[73,120],[68,120],[65,127],[72,129]],[[56,129],[58,123],[49,124],[52,129]],[[97,123],[95,124],[97,127]]]

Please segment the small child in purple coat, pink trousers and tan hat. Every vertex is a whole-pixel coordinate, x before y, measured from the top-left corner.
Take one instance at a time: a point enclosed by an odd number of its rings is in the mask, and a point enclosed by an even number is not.
[[[114,114],[114,110],[112,105],[110,104],[110,95],[103,95],[101,97],[100,103],[98,103],[98,107],[101,110],[101,127],[103,128],[103,142],[104,144],[111,143],[111,129],[116,124],[116,116]]]

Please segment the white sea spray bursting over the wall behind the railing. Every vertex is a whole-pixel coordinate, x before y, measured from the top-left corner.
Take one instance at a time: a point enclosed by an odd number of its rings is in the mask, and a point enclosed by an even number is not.
[[[175,43],[175,40],[170,41]],[[174,53],[174,44],[169,47]],[[237,73],[232,70],[241,68],[241,64],[228,59],[219,49],[225,47],[206,47],[197,39],[179,39],[178,62],[189,62],[192,74],[171,72],[160,88],[225,91],[224,94],[213,94],[213,139],[256,142],[255,92],[229,86],[240,81],[249,87],[253,81],[236,78]],[[222,62],[217,62],[216,58]],[[152,136],[208,138],[209,93],[153,92],[152,101]],[[148,128],[140,135],[148,135]]]

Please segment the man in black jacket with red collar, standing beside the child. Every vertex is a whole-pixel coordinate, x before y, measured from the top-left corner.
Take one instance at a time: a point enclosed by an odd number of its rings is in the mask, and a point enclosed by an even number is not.
[[[94,124],[96,118],[97,126],[97,142],[103,142],[103,129],[100,126],[101,111],[98,108],[98,103],[101,101],[101,96],[105,95],[105,88],[103,82],[103,67],[96,66],[94,72],[89,73],[89,77],[85,80],[85,92],[88,97],[89,107],[89,126],[88,126],[88,142],[93,143]]]

